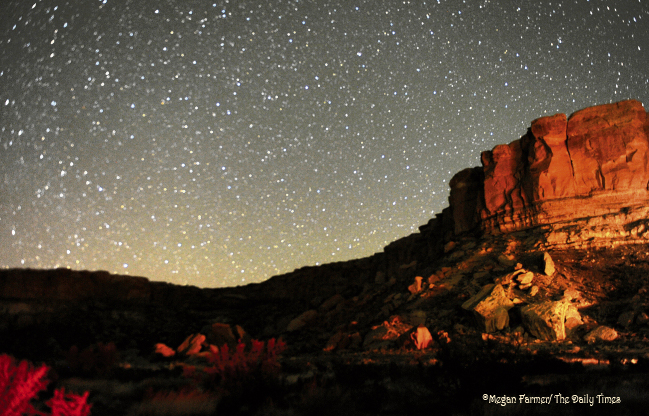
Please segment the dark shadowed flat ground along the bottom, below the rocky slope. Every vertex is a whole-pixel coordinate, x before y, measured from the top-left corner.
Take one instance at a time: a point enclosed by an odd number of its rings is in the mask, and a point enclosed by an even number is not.
[[[212,385],[178,361],[137,361],[95,375],[59,363],[54,379],[90,391],[93,415],[644,415],[649,405],[649,360],[601,350],[323,353]]]

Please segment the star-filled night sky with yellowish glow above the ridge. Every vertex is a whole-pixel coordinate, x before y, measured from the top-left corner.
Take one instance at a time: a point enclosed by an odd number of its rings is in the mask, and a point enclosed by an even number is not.
[[[0,267],[367,256],[533,119],[649,103],[648,52],[647,0],[4,1]]]

